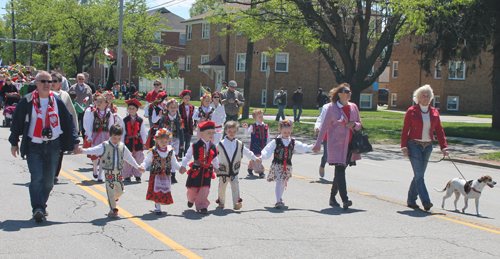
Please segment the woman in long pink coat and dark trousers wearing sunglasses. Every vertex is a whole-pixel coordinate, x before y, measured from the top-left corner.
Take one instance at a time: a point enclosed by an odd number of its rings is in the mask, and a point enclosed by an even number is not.
[[[330,205],[340,206],[335,200],[337,191],[339,191],[345,210],[352,205],[352,201],[347,197],[345,169],[347,166],[356,165],[355,161],[361,159],[360,155],[353,154],[350,150],[352,133],[354,130],[360,130],[362,126],[358,106],[349,102],[351,94],[351,87],[348,83],[343,83],[330,91],[332,105],[326,111],[321,131],[313,149],[314,152],[320,150],[323,137],[328,132],[327,161],[330,165],[335,166]]]

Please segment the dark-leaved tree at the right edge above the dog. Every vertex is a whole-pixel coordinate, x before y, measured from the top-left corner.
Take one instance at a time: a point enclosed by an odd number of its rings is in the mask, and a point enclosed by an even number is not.
[[[417,45],[423,54],[422,68],[430,72],[436,59],[441,64],[463,60],[472,61],[467,71],[473,72],[476,63],[481,63],[480,55],[492,48],[492,127],[500,129],[500,4],[476,0],[432,13],[425,20],[424,43]]]

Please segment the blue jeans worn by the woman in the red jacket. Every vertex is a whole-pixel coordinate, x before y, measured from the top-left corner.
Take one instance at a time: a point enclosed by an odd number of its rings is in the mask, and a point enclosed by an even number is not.
[[[424,174],[432,153],[432,144],[424,147],[408,141],[408,150],[410,151],[410,162],[413,167],[414,177],[408,190],[407,203],[416,204],[417,196],[420,196],[420,201],[425,206],[431,202],[427,187],[425,187]]]

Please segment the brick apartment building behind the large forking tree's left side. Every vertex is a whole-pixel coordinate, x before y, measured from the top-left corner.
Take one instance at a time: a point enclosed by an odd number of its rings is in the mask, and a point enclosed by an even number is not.
[[[214,91],[220,89],[222,81],[236,80],[238,90],[243,92],[247,38],[236,33],[219,36],[218,32],[225,25],[209,24],[204,20],[209,14],[194,16],[182,22],[186,26],[185,87],[193,93],[200,93],[200,85]],[[274,56],[264,54],[269,48],[280,45],[267,39],[255,42],[251,95],[247,101],[252,106],[267,102],[268,107],[274,107],[274,96],[280,87],[284,87],[288,93],[288,107],[291,107],[293,92],[302,86],[304,108],[315,108],[318,88],[328,93],[337,86],[330,66],[319,51],[307,52],[297,44],[287,44]],[[201,64],[206,65],[200,68]],[[267,65],[270,67],[270,76],[266,92]],[[371,88],[363,91],[361,98],[364,108],[376,108],[376,95],[376,91]]]

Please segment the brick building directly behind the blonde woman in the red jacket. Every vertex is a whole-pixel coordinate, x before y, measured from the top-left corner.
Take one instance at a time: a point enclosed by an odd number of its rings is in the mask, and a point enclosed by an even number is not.
[[[471,64],[466,62],[440,65],[436,61],[431,66],[432,72],[427,74],[420,68],[418,60],[421,57],[413,43],[408,37],[403,37],[394,46],[391,56],[389,83],[386,85],[389,106],[407,109],[413,105],[413,91],[429,84],[435,95],[432,104],[441,111],[491,113],[493,55],[486,52],[480,58],[482,64],[474,72],[467,71]]]

